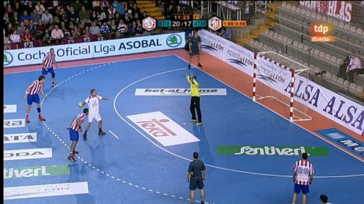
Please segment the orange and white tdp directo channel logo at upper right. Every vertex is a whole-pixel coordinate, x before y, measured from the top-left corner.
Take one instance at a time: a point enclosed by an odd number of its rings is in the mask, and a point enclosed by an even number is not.
[[[329,24],[313,23],[311,27],[311,42],[333,42],[335,37],[330,36],[332,28]]]

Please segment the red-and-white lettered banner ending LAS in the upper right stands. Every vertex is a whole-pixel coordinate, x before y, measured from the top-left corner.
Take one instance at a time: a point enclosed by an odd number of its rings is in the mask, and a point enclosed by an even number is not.
[[[340,20],[351,21],[353,1],[300,1],[300,5]],[[359,2],[359,1],[354,1]]]

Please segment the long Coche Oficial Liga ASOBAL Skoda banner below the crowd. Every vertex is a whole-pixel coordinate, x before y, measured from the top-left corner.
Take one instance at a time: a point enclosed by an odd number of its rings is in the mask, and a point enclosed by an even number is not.
[[[72,61],[98,57],[109,57],[144,53],[165,49],[183,48],[185,33],[150,35],[116,40],[63,44],[24,49],[10,49],[4,52],[4,66],[41,64],[50,48],[55,49],[56,61]]]

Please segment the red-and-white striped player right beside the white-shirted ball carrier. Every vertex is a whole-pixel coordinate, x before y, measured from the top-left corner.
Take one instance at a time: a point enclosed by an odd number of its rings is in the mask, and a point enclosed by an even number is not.
[[[82,133],[81,124],[86,120],[86,116],[88,115],[88,109],[83,109],[83,112],[78,114],[76,118],[72,120],[71,126],[70,126],[70,140],[72,141],[71,144],[71,151],[69,160],[75,162],[74,154],[78,154],[78,151],[76,151],[76,146],[78,142],[78,132]]]

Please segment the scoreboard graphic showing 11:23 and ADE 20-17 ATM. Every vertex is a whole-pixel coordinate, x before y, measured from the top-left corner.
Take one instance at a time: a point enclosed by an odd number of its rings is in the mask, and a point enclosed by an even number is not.
[[[155,23],[156,22],[156,23]],[[146,27],[146,28],[144,28]],[[148,17],[143,28],[151,31],[157,28],[161,29],[202,29],[209,28],[213,31],[218,31],[221,28],[244,28],[246,27],[245,20],[221,20],[218,17],[210,19],[200,19],[198,14],[194,15],[172,15],[169,19],[155,20]]]

